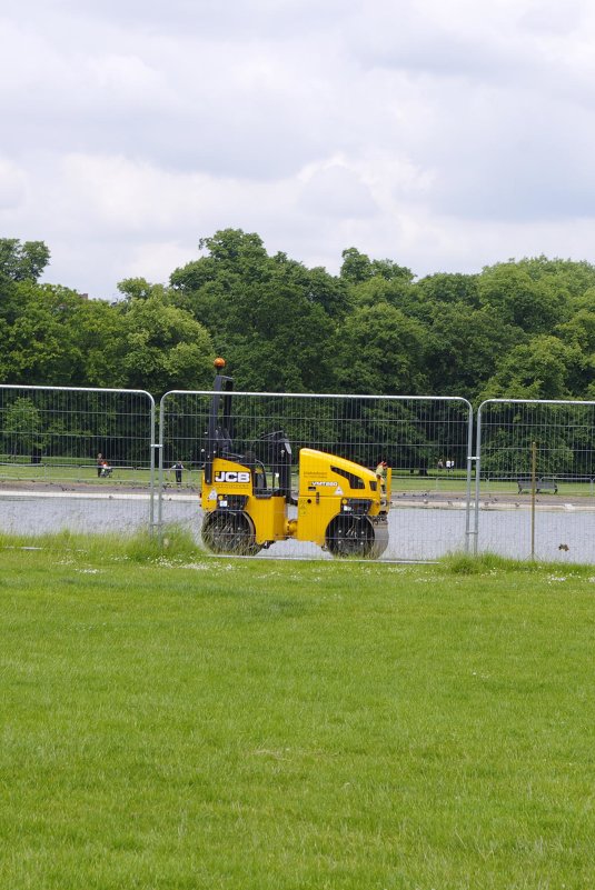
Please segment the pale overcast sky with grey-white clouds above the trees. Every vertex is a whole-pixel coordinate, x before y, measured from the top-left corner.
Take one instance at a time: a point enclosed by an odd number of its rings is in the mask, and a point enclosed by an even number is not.
[[[4,0],[0,237],[113,299],[221,228],[337,272],[595,262],[591,0]]]

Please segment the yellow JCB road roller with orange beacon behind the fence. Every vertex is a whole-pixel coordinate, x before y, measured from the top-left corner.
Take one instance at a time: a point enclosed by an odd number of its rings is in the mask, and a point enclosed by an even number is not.
[[[215,364],[202,449],[204,544],[214,553],[251,556],[292,538],[335,557],[380,556],[388,543],[390,471],[383,478],[385,462],[377,474],[346,458],[303,448],[296,480],[291,444],[279,429],[251,442],[255,451],[237,453],[234,378],[221,373],[224,359]]]

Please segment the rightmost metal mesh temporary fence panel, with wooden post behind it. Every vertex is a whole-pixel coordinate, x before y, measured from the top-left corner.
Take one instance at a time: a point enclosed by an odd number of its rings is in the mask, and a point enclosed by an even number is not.
[[[476,550],[595,562],[595,402],[490,399],[477,412]]]

